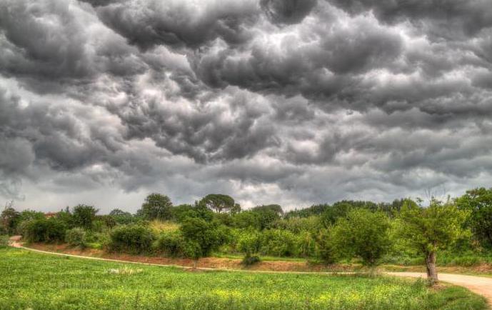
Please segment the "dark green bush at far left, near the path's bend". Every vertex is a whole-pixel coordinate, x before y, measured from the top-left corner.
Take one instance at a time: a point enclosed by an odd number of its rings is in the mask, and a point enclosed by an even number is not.
[[[29,242],[59,242],[65,239],[66,225],[58,219],[35,219],[24,226]]]

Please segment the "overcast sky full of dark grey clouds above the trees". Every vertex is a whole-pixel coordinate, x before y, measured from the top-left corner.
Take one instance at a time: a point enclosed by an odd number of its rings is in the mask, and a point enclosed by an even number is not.
[[[0,0],[0,202],[490,187],[491,69],[491,0]]]

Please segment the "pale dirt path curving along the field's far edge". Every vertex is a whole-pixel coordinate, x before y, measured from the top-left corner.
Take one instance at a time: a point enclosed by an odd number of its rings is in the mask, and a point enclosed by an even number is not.
[[[148,266],[168,266],[168,267],[178,267],[182,269],[191,269],[191,267],[187,266],[179,266],[179,265],[164,265],[164,264],[151,264],[151,263],[142,263],[137,261],[122,261],[118,259],[102,259],[99,257],[91,257],[91,256],[81,256],[74,254],[64,254],[64,253],[56,253],[51,251],[41,251],[37,249],[30,249],[22,246],[19,242],[19,239],[13,238],[10,241],[11,246],[18,249],[25,249],[27,251],[34,251],[43,254],[51,254],[51,255],[59,255],[59,256],[71,256],[80,259],[96,259],[99,261],[113,261],[118,263],[125,264],[144,264]],[[351,272],[343,272],[343,273],[335,273],[335,272],[318,272],[318,271],[259,271],[259,270],[244,270],[244,269],[216,269],[216,268],[204,268],[199,267],[199,270],[206,271],[236,271],[236,272],[256,272],[256,273],[281,273],[281,274],[351,274]],[[426,278],[426,274],[419,272],[385,272],[388,276],[403,276],[403,277],[411,277],[411,278]],[[492,278],[486,278],[483,276],[465,276],[462,274],[438,274],[439,280],[448,282],[451,284],[456,284],[458,286],[463,286],[473,291],[476,294],[480,294],[486,297],[488,304],[492,305]]]

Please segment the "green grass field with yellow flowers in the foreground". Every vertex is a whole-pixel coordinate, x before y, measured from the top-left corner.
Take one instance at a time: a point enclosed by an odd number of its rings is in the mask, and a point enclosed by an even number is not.
[[[466,289],[363,276],[183,271],[0,249],[0,309],[487,309]]]

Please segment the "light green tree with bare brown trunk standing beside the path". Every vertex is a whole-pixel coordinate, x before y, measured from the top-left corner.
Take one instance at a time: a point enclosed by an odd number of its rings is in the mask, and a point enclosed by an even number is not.
[[[466,234],[463,223],[466,211],[447,201],[431,199],[431,204],[424,208],[407,200],[400,212],[396,226],[398,234],[408,246],[425,256],[427,279],[430,284],[438,281],[436,269],[436,252],[451,246],[460,236]]]

